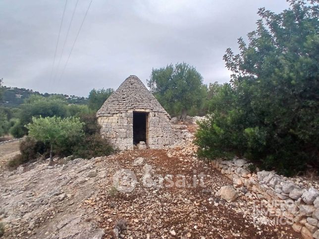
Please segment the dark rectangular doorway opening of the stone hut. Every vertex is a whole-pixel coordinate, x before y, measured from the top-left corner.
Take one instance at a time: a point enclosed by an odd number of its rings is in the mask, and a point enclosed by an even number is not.
[[[138,144],[140,141],[147,143],[147,122],[148,113],[133,112],[133,143]]]

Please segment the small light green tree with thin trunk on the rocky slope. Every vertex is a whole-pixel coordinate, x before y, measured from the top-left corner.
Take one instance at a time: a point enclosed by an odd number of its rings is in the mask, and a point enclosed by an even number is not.
[[[69,117],[32,117],[32,123],[27,125],[29,136],[37,141],[50,144],[50,164],[53,163],[53,151],[56,146],[69,138],[83,136],[83,123],[79,118]]]

